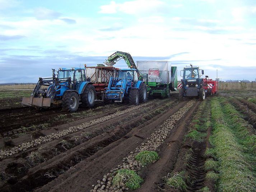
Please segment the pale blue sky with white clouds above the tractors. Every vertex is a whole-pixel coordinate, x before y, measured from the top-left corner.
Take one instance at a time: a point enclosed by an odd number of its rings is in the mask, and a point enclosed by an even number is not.
[[[0,0],[0,83],[96,66],[116,51],[179,71],[197,65],[212,79],[218,70],[221,80],[255,80],[256,1]]]

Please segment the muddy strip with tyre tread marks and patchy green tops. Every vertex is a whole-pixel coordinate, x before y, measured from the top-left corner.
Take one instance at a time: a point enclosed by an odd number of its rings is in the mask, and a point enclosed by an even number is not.
[[[164,182],[172,189],[182,191],[210,191],[213,188],[208,185],[206,172],[209,170],[205,166],[207,135],[211,131],[209,100],[205,100],[197,109],[190,123],[190,130],[185,136],[183,146],[178,156],[180,164],[174,166],[172,172],[163,178]],[[187,148],[187,146],[189,146]],[[185,150],[186,149],[186,150]],[[181,162],[180,162],[181,161]],[[211,158],[208,161],[213,161]],[[205,177],[206,176],[206,177]]]

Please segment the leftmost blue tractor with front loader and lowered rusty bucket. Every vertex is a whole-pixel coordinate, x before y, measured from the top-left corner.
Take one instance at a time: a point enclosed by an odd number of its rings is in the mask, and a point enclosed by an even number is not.
[[[84,107],[92,108],[96,91],[85,74],[85,68],[52,69],[52,78],[39,78],[31,96],[24,97],[22,104],[38,108],[61,104],[62,109],[68,112],[76,111],[80,102]]]

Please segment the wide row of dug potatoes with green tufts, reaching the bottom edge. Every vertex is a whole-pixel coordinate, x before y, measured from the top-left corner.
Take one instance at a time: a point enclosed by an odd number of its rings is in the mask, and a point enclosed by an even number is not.
[[[176,113],[174,113],[172,116],[170,116],[166,121],[163,122],[162,125],[159,126],[159,128],[151,134],[147,140],[142,143],[139,147],[135,149],[135,152],[131,151],[130,155],[125,157],[123,159],[122,165],[117,165],[116,168],[112,168],[109,173],[105,174],[101,181],[97,181],[98,184],[95,186],[93,185],[93,189],[91,189],[91,192],[95,191],[101,191],[101,192],[116,192],[116,191],[123,191],[127,190],[127,187],[131,185],[127,183],[126,179],[123,179],[123,182],[120,182],[120,185],[116,185],[113,180],[115,180],[115,176],[117,174],[120,174],[120,172],[128,173],[131,171],[139,172],[139,170],[144,167],[145,164],[143,162],[138,160],[138,155],[141,153],[147,153],[147,151],[156,151],[157,148],[163,144],[164,140],[167,138],[167,135],[172,130],[172,128],[175,127],[176,123],[181,120],[185,113],[190,110],[192,106],[194,106],[195,101],[188,102],[184,107],[179,109]],[[149,152],[150,153],[150,152]],[[135,177],[137,178],[137,177]],[[139,187],[139,184],[142,182],[141,179],[137,179],[139,183],[134,183],[137,187]]]

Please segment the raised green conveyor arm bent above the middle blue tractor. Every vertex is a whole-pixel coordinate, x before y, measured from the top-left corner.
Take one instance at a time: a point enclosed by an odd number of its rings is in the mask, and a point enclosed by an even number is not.
[[[128,67],[130,67],[131,69],[137,69],[130,53],[125,53],[122,51],[117,51],[117,52],[113,53],[111,56],[109,56],[107,58],[107,60],[104,62],[104,64],[112,66],[112,65],[115,65],[116,62],[122,58],[125,60]]]

